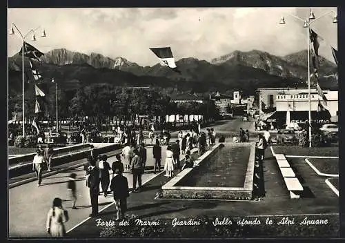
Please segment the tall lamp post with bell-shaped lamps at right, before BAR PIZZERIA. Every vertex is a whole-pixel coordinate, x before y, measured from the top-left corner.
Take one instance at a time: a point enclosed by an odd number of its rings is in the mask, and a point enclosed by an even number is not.
[[[309,45],[310,45],[310,26],[312,23],[317,21],[318,19],[326,16],[327,14],[334,14],[333,17],[333,23],[337,23],[337,14],[334,11],[329,11],[324,14],[322,14],[320,17],[317,17],[315,19],[315,15],[313,10],[311,9],[311,12],[309,13],[309,17],[306,17],[305,20],[293,15],[293,14],[288,14],[291,17],[294,17],[295,19],[304,22],[304,28],[307,29],[306,36],[307,36],[307,52],[308,52],[308,102],[309,102],[309,108],[308,108],[308,122],[309,122],[309,147],[311,147],[311,67],[310,67],[310,50],[309,50]],[[279,24],[285,24],[284,17],[282,17],[279,21]]]

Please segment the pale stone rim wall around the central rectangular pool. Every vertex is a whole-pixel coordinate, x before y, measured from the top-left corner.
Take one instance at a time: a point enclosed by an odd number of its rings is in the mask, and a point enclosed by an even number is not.
[[[250,146],[250,155],[248,158],[248,166],[246,178],[243,187],[198,187],[198,186],[176,186],[184,177],[192,176],[192,171],[197,170],[199,164],[217,153],[220,146],[231,144],[231,146]],[[217,144],[208,150],[204,155],[195,161],[193,168],[186,168],[176,177],[172,178],[167,184],[161,188],[161,197],[163,198],[189,198],[189,199],[227,199],[227,200],[251,200],[253,197],[253,179],[255,165],[255,143],[224,143]]]

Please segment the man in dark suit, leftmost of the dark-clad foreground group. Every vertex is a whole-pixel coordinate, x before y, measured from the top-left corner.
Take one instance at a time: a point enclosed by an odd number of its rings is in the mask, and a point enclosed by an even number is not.
[[[90,199],[92,206],[92,213],[90,217],[95,217],[98,215],[98,195],[99,195],[99,168],[96,167],[95,160],[90,161],[90,166],[88,167],[88,188],[90,188]]]

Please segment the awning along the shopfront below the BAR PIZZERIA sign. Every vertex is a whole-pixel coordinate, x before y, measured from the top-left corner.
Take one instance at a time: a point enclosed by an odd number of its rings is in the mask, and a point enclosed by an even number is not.
[[[290,111],[290,122],[297,122],[297,124],[308,122],[308,111]],[[331,114],[328,110],[311,111],[311,119],[318,124],[325,124],[331,122]],[[286,122],[286,111],[275,111],[270,117],[267,117],[266,122]]]

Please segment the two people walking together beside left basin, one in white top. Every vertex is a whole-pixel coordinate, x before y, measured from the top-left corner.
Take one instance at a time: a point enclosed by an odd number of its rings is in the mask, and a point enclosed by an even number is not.
[[[38,181],[37,186],[41,186],[43,169],[47,168],[48,171],[52,170],[53,155],[54,149],[50,145],[48,145],[46,148],[43,148],[40,145],[36,150],[36,155],[34,155],[34,159],[32,161],[32,171],[36,173]]]

